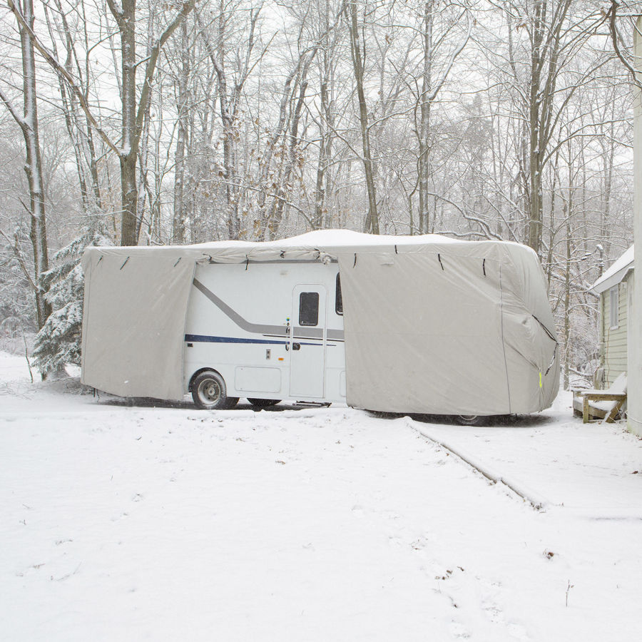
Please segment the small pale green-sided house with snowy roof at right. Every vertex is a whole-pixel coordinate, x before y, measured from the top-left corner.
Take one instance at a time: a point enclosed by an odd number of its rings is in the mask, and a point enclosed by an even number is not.
[[[600,297],[600,368],[596,387],[628,372],[628,312],[633,300],[633,245],[588,289]]]

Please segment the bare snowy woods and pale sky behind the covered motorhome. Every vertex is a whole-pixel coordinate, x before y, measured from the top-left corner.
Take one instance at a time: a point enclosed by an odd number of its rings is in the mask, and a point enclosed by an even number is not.
[[[633,16],[599,0],[8,0],[0,337],[78,362],[89,244],[530,245],[564,350],[632,242]]]

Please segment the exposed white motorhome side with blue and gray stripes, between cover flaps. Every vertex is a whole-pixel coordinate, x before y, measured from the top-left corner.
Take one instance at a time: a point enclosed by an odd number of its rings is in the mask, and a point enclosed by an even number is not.
[[[215,370],[228,397],[345,402],[336,262],[197,265],[185,320],[184,392]]]

